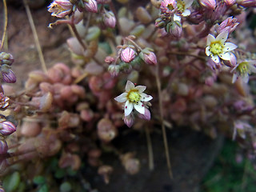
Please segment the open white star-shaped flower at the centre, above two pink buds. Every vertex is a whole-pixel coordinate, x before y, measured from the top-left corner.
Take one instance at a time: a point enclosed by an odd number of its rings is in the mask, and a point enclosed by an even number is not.
[[[145,105],[142,102],[149,102],[152,96],[144,94],[146,86],[134,86],[129,80],[126,82],[126,92],[114,98],[117,102],[125,103],[125,116],[128,116],[133,109],[140,114],[145,114]]]

